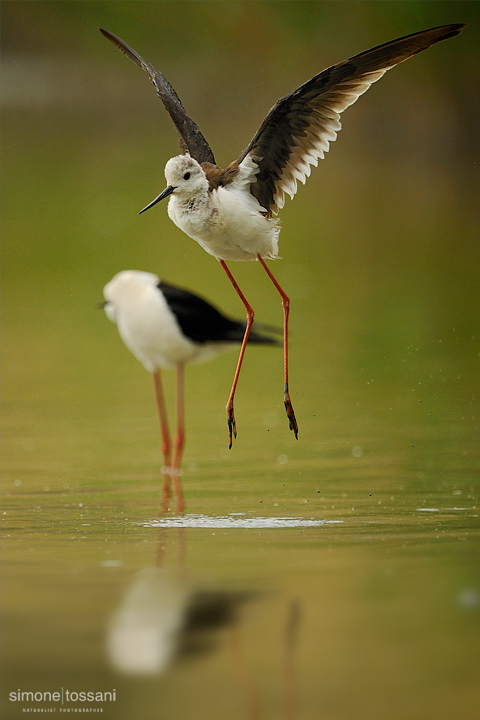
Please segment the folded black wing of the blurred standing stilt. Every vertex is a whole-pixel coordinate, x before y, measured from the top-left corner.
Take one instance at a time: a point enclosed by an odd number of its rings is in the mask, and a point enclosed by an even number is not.
[[[160,282],[167,305],[175,315],[186,337],[200,344],[206,342],[241,343],[245,333],[245,323],[230,320],[206,300],[182,288]],[[249,342],[276,345],[277,341],[255,331],[250,333]]]

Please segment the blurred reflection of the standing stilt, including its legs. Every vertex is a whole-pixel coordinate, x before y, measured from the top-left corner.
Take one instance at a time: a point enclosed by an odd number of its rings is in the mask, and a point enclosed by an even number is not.
[[[163,568],[168,531],[159,530],[155,567],[139,572],[109,624],[113,667],[126,673],[163,672],[175,659],[215,647],[217,631],[238,623],[251,592],[202,586],[187,577],[185,530],[177,535],[177,568]]]

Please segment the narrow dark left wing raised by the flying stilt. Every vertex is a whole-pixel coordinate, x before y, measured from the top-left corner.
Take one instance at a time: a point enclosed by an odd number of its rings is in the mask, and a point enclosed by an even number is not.
[[[180,147],[188,152],[197,162],[215,163],[212,150],[203,137],[198,125],[192,120],[182,105],[180,98],[162,73],[155,70],[153,65],[145,60],[127,43],[121,40],[108,30],[99,28],[102,35],[110,40],[124,55],[132,60],[135,65],[148,73],[150,80],[155,86],[157,95],[165,105],[170,117],[178,130]]]

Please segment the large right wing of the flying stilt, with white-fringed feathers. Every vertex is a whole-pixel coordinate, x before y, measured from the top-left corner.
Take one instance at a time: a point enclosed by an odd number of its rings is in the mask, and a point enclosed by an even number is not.
[[[352,105],[387,70],[440,40],[458,35],[463,24],[431,28],[378,45],[333,65],[279,100],[236,161],[247,155],[260,171],[251,193],[269,216],[293,197],[297,180],[305,182],[341,128],[340,113]]]

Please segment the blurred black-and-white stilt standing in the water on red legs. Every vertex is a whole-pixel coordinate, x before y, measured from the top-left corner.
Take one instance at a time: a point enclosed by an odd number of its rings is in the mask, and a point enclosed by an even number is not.
[[[163,505],[168,506],[173,477],[177,510],[184,509],[180,465],[185,442],[183,375],[187,363],[209,360],[242,343],[245,322],[231,320],[216,308],[153,273],[124,270],[103,289],[107,317],[115,322],[120,336],[142,365],[153,375],[162,434],[164,489]],[[250,342],[276,345],[276,340],[251,332]],[[177,432],[172,444],[162,391],[160,368],[177,371]]]

